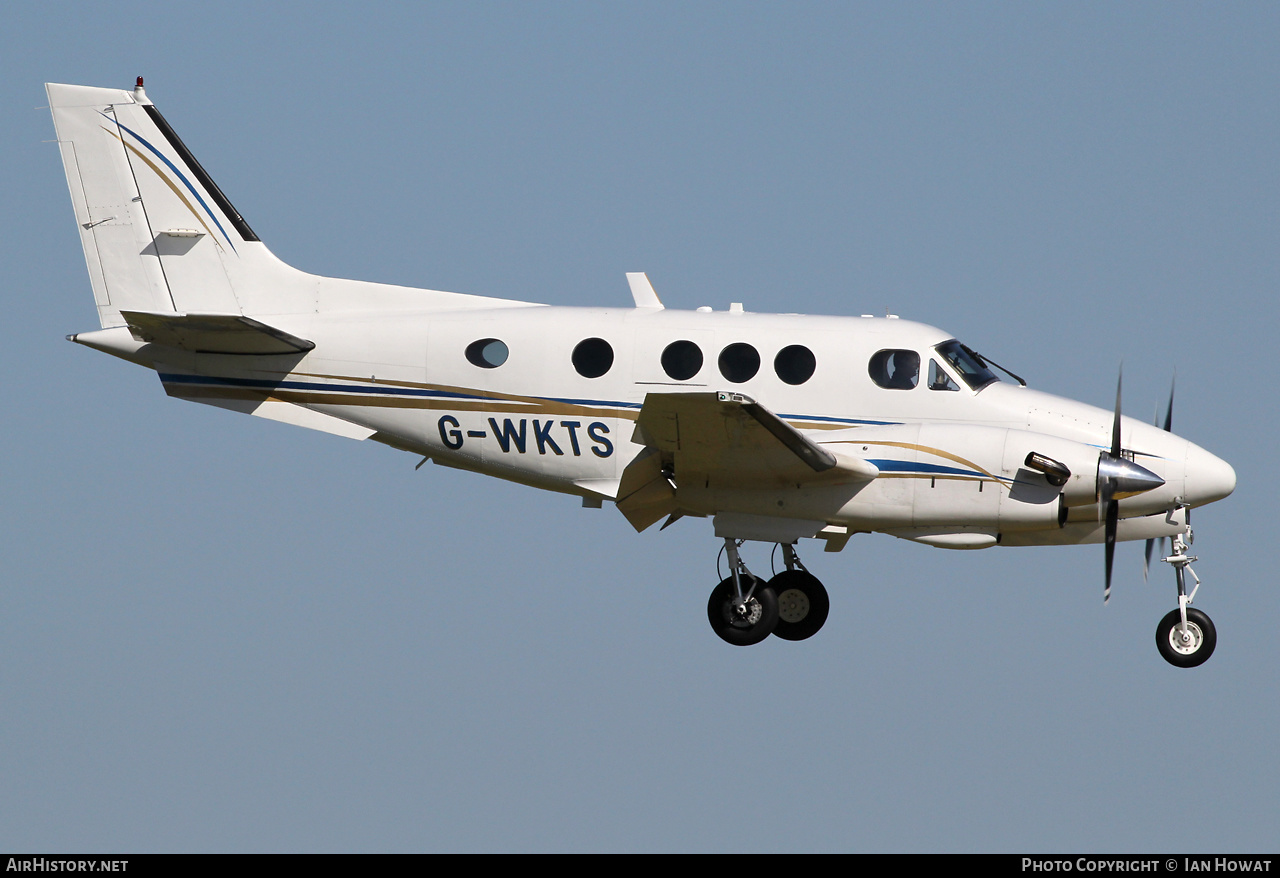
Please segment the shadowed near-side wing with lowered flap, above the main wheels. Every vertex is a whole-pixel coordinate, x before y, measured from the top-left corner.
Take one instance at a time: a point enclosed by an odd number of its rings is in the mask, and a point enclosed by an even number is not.
[[[870,481],[879,470],[832,452],[740,393],[650,393],[622,472],[618,509],[637,531],[680,512],[678,486],[705,480],[735,490]]]

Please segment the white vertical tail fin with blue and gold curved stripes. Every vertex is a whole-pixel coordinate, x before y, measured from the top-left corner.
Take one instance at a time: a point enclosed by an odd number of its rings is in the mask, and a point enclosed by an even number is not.
[[[133,91],[45,88],[102,326],[122,311],[243,314],[237,292],[301,274],[259,243],[141,77]]]

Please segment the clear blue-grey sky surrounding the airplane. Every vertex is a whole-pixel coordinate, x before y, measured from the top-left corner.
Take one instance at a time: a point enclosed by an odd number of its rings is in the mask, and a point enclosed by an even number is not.
[[[1274,850],[1280,13],[1263,4],[28,4],[6,17],[0,847]],[[822,634],[707,630],[704,521],[168,399],[95,328],[46,81],[148,95],[306,270],[891,310],[1239,486],[1217,625],[1102,549],[858,536]],[[768,567],[765,552],[748,561]]]

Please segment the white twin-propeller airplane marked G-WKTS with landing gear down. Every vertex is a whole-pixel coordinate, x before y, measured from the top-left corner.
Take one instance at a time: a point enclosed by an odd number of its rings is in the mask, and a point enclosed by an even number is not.
[[[1171,540],[1160,654],[1196,667],[1190,509],[1230,465],[1164,425],[1042,393],[951,334],[892,315],[558,307],[307,274],[276,259],[147,97],[46,84],[100,329],[78,344],[172,397],[617,506],[636,531],[710,518],[733,645],[822,628],[801,539],[881,532],[946,549]],[[998,374],[997,374],[998,372]],[[1004,378],[1001,378],[1004,374]],[[1012,380],[1009,380],[1012,379]],[[746,541],[781,548],[768,579]],[[1188,591],[1187,575],[1194,580]]]

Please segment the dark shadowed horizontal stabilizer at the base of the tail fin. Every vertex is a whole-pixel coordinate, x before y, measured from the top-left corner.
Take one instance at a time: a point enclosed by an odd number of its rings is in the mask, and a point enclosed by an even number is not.
[[[140,342],[193,353],[306,353],[314,342],[238,314],[122,311]]]

